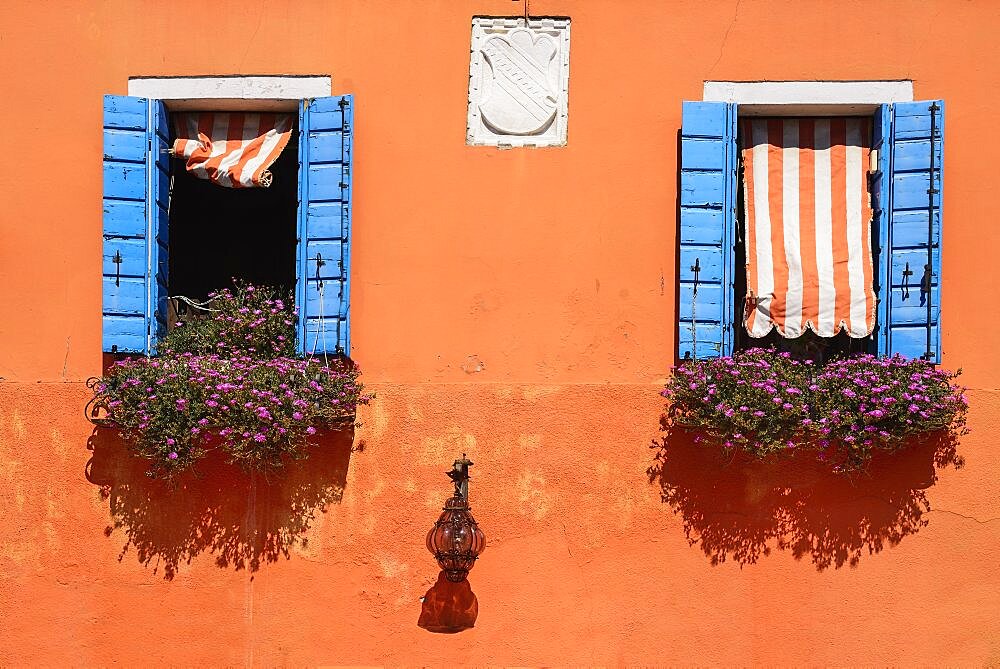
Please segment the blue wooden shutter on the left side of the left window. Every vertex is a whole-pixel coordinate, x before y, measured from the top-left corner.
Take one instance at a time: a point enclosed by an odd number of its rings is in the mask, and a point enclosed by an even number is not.
[[[146,353],[166,327],[169,155],[163,103],[104,97],[103,350]]]

